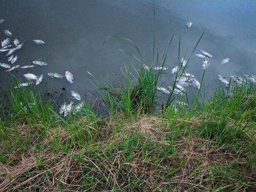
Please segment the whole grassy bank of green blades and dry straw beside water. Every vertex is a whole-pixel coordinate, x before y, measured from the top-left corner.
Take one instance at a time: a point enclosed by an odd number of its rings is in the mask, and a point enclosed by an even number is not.
[[[199,90],[176,111],[172,94],[158,100],[160,73],[126,69],[118,88],[95,78],[107,118],[90,104],[64,118],[31,86],[4,88],[0,190],[255,191],[255,86],[200,102]]]

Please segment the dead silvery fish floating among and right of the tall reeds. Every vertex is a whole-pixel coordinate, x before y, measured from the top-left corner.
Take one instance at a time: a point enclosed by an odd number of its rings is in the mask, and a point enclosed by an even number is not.
[[[187,23],[187,27],[191,27],[192,25],[192,22],[188,22]],[[208,68],[210,66],[210,61],[212,58],[212,55],[206,51],[203,51],[201,50],[201,53],[203,54],[196,54],[197,57],[199,58],[203,58],[205,59],[202,63],[202,67],[203,67],[203,70],[205,70],[206,68]],[[225,64],[229,62],[229,58],[225,58],[221,61],[222,64]],[[185,60],[184,58],[181,58],[181,65],[183,67],[185,67],[187,65],[187,60]],[[150,70],[150,67],[149,66],[146,66],[146,65],[143,65],[143,67],[146,69],[146,70]],[[153,67],[154,70],[158,70],[158,71],[165,71],[167,70],[166,67]],[[177,73],[179,69],[179,66],[175,66],[173,69],[172,69],[172,75],[174,75],[175,73]],[[252,83],[256,83],[256,75],[244,75],[246,77],[246,79],[249,79],[250,82]],[[229,81],[227,81],[226,78],[222,77],[222,75],[218,75],[220,81],[223,83],[224,86],[226,86],[227,88],[230,87],[229,85]],[[243,84],[245,84],[246,82],[243,80],[243,78],[241,77],[238,77],[238,76],[230,76],[233,81],[236,83],[236,85],[238,86],[241,86]],[[192,85],[196,87],[196,89],[200,89],[200,83],[199,81],[195,78],[194,75],[192,74],[189,74],[189,73],[182,73],[182,75],[180,77],[177,77],[176,79],[176,82],[175,82],[175,87],[173,86],[167,86],[167,87],[161,87],[161,86],[157,86],[157,90],[161,91],[162,93],[167,93],[167,94],[170,94],[171,92],[173,94],[176,94],[176,95],[182,95],[185,91],[185,88],[184,87],[187,87],[187,86],[190,86],[191,84],[189,82],[192,81]],[[184,102],[177,102],[179,105],[184,105],[186,107],[188,107],[188,104],[187,103],[184,103]],[[182,104],[181,104],[182,103]],[[175,108],[176,109],[176,108]]]

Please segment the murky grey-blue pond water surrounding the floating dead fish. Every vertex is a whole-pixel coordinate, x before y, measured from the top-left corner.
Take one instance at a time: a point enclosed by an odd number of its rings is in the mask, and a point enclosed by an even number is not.
[[[213,58],[206,69],[203,85],[206,92],[210,93],[219,85],[218,74],[229,77],[252,75],[256,71],[256,1],[9,0],[1,1],[0,7],[0,19],[5,20],[0,25],[1,41],[7,38],[4,30],[8,29],[13,33],[11,42],[18,38],[25,43],[21,50],[14,53],[19,56],[15,65],[31,65],[30,61],[38,59],[48,63],[43,67],[18,68],[11,74],[21,82],[26,82],[22,76],[26,73],[43,74],[43,82],[37,86],[52,91],[65,87],[66,92],[61,95],[63,99],[68,99],[72,90],[85,99],[94,97],[92,92],[95,87],[87,71],[100,82],[109,78],[115,85],[120,81],[120,68],[125,65],[132,68],[123,53],[113,51],[120,48],[139,57],[134,45],[117,38],[109,38],[103,45],[104,39],[110,35],[129,38],[142,53],[144,63],[150,65],[156,59],[152,58],[155,34],[155,53],[161,55],[168,51],[168,74],[163,74],[160,79],[165,82],[163,86],[172,85],[169,76],[171,69],[177,65],[180,36],[180,57],[188,60],[204,30],[185,72],[201,79],[201,62],[204,59],[195,54],[200,54],[200,50],[210,52]],[[186,27],[188,21],[192,22],[190,28]],[[45,44],[37,45],[33,39],[42,39]],[[9,63],[5,54],[0,53],[0,62]],[[230,61],[222,65],[221,60],[227,57]],[[142,66],[135,59],[131,61],[136,67]],[[47,75],[54,71],[65,75],[66,70],[73,73],[74,84],[68,83],[65,77],[52,79]],[[5,75],[2,70],[1,84],[5,84]],[[197,92],[196,89],[192,91]]]

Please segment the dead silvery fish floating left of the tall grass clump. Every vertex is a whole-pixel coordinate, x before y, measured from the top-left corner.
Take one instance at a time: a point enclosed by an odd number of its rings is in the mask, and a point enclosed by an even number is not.
[[[0,24],[3,23],[4,20],[0,20]],[[4,34],[9,36],[9,37],[12,37],[12,33],[9,31],[9,30],[4,30]],[[44,42],[40,39],[34,39],[33,40],[36,44],[44,44]],[[17,69],[17,68],[22,68],[22,69],[26,69],[26,68],[31,68],[31,67],[34,67],[34,65],[26,65],[26,66],[20,66],[20,65],[15,65],[14,63],[17,61],[18,59],[18,55],[15,55],[14,56],[14,52],[16,50],[19,50],[21,49],[21,47],[24,45],[24,43],[20,43],[20,41],[18,39],[14,39],[13,41],[13,44],[15,47],[11,48],[12,45],[10,45],[10,38],[6,38],[4,39],[2,42],[2,48],[0,49],[0,53],[3,53],[3,52],[7,52],[6,56],[9,56],[9,58],[7,59],[7,61],[11,62],[11,64],[13,65],[12,67],[7,64],[7,63],[2,63],[0,62],[0,66],[5,68],[7,72],[10,72],[14,69]],[[43,61],[33,61],[33,63],[37,66],[46,66],[48,65],[48,63],[46,62],[43,62]],[[50,77],[56,77],[56,78],[63,78],[63,75],[60,75],[58,73],[48,73],[48,75]],[[40,76],[36,76],[34,74],[30,74],[30,73],[27,73],[25,75],[23,75],[27,80],[28,82],[25,82],[25,83],[21,83],[17,86],[15,86],[15,88],[18,88],[18,87],[24,87],[24,86],[28,86],[29,84],[32,84],[33,80],[35,80],[35,84],[38,85],[42,82],[43,80],[43,75],[40,75]],[[69,71],[66,71],[65,72],[65,77],[67,78],[67,81],[70,82],[70,83],[73,83],[73,74]],[[59,109],[59,113],[60,114],[64,114],[64,116],[66,117],[70,112],[72,112],[73,114],[77,111],[80,111],[81,110],[81,107],[84,105],[84,101],[81,101],[81,95],[75,91],[71,91],[71,95],[74,99],[76,99],[77,101],[79,101],[77,103],[77,105],[73,106],[74,102],[71,101],[69,103],[69,105],[67,105],[67,103],[65,102]],[[21,103],[22,105],[22,103]],[[23,106],[23,105],[22,105]],[[26,106],[24,106],[24,109],[27,110]]]

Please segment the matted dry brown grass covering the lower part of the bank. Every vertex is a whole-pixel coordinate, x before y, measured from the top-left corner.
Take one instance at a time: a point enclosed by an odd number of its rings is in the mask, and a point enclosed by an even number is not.
[[[77,123],[84,126],[84,121]],[[216,145],[218,141],[199,137],[199,118],[176,119],[175,126],[168,122],[163,126],[161,118],[143,117],[123,123],[123,130],[114,132],[118,124],[115,121],[102,121],[98,127],[87,124],[88,129],[94,130],[94,144],[91,148],[81,148],[74,143],[69,154],[61,148],[54,151],[51,146],[57,135],[62,143],[72,135],[63,127],[52,129],[41,142],[31,142],[26,153],[9,155],[9,164],[0,162],[0,190],[215,191],[219,187],[221,191],[256,190],[256,165],[250,162],[255,159],[256,150],[244,150],[251,145],[250,139],[239,148]],[[179,127],[182,129],[177,137],[175,131]],[[24,137],[32,134],[26,125],[18,130],[24,132],[21,134]],[[36,152],[35,143],[47,147]],[[5,150],[1,147],[1,151]]]

